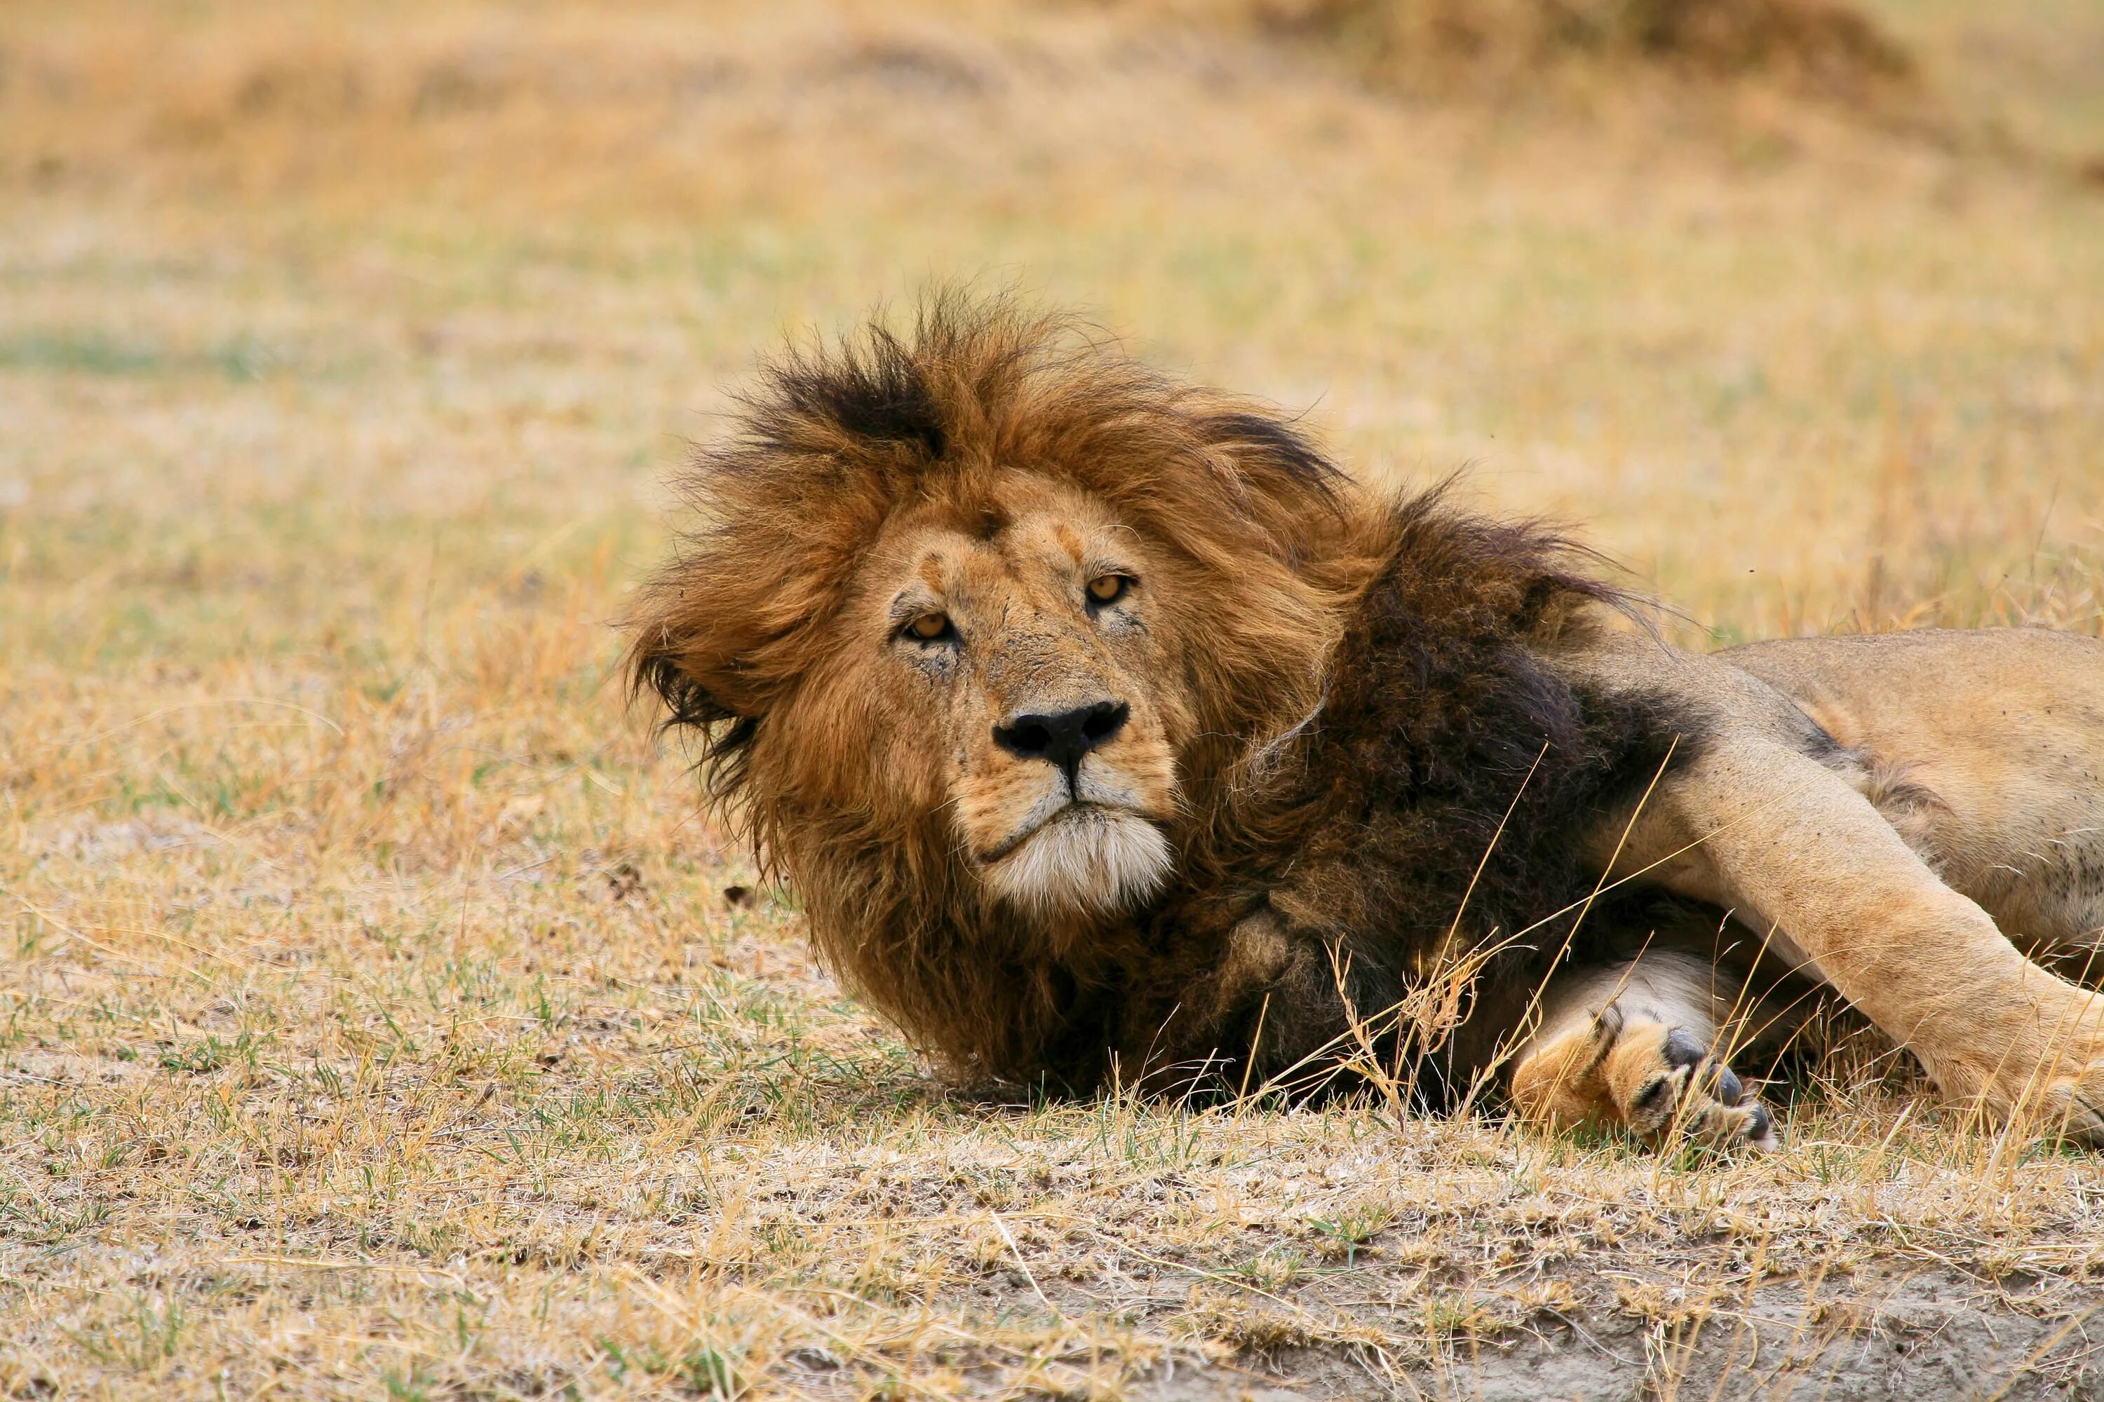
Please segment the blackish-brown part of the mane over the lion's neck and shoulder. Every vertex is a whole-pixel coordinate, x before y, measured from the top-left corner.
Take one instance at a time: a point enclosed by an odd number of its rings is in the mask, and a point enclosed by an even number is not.
[[[1557,961],[1660,914],[1652,895],[1610,893],[1580,925],[1595,889],[1582,839],[1690,761],[1702,721],[1589,694],[1540,658],[1631,599],[1586,570],[1591,553],[1462,511],[1443,488],[1397,502],[1391,521],[1317,723],[1237,811],[1241,841],[1212,881],[1155,916],[1149,948],[1185,967],[1130,980],[1117,1032],[1081,1038],[1121,1049],[1126,1076],[1182,1083],[1203,1066],[1239,1083],[1254,1053],[1258,1083],[1294,1068],[1313,1083],[1361,1051],[1349,1022],[1363,1019],[1387,1055],[1403,1040],[1422,1053],[1420,1091],[1439,1099],[1488,1070]],[[1252,912],[1279,931],[1286,965],[1260,996],[1208,988],[1222,923]],[[1405,1026],[1395,1011],[1424,1019],[1439,982],[1448,1022]]]

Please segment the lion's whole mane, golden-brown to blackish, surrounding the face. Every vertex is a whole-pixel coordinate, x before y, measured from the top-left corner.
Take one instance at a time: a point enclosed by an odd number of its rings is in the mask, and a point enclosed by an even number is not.
[[[873,774],[869,736],[778,708],[837,647],[827,624],[884,521],[987,500],[1016,467],[1109,502],[1208,582],[1172,601],[1199,639],[1176,877],[1065,946],[980,895],[943,813],[867,778],[844,792]],[[781,355],[682,486],[699,525],[640,597],[631,677],[699,738],[707,792],[800,891],[844,982],[972,1076],[1321,1066],[1363,1051],[1355,1015],[1378,1026],[1456,956],[1475,980],[1450,1022],[1488,1030],[1418,1051],[1466,1076],[1570,944],[1586,820],[1696,729],[1538,660],[1616,601],[1555,534],[1441,490],[1378,500],[1269,408],[1006,303],[936,296],[909,336],[873,324]],[[1231,940],[1252,916],[1275,931],[1254,975]]]

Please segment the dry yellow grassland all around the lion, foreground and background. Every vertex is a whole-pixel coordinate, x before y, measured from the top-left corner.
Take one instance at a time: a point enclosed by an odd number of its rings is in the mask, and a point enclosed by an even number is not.
[[[2100,631],[2096,6],[1856,103],[1262,8],[6,6],[0,1391],[2104,1389],[2104,1162],[1894,1057],[1723,1160],[951,1089],[627,713],[684,439],[947,275],[1681,641]]]

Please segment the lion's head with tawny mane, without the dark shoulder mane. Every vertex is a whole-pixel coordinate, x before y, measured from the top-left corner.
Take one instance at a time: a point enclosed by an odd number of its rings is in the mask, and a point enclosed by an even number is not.
[[[638,683],[850,982],[995,1064],[1210,862],[1376,519],[1279,416],[957,296],[770,364],[684,488]]]

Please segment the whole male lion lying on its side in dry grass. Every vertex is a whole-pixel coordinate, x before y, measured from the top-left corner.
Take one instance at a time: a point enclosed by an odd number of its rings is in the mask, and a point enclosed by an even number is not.
[[[2104,1141],[2104,998],[2026,956],[2104,942],[2104,643],[1677,652],[1536,525],[955,296],[770,366],[686,488],[633,677],[962,1072],[1767,1146],[1721,1051],[1809,980]]]

